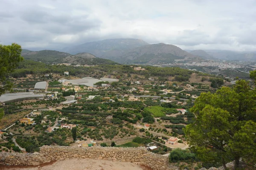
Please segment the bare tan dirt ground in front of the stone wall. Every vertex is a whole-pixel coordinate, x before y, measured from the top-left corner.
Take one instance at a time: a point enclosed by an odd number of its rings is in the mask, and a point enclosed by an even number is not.
[[[93,159],[68,159],[56,161],[43,167],[0,167],[0,170],[152,170],[146,166],[140,166],[130,162],[117,162]]]

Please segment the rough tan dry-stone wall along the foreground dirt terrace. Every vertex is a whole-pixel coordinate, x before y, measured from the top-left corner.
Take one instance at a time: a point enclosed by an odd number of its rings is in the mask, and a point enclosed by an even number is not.
[[[151,153],[145,147],[61,147],[43,146],[39,153],[0,153],[3,165],[39,165],[54,160],[69,158],[104,159],[111,161],[134,162],[144,164],[153,170],[177,170],[168,163],[168,157]]]

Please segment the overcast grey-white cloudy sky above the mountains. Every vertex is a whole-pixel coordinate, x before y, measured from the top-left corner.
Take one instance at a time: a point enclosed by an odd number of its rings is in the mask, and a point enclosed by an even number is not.
[[[0,0],[0,43],[62,49],[138,38],[182,49],[256,51],[256,0]]]

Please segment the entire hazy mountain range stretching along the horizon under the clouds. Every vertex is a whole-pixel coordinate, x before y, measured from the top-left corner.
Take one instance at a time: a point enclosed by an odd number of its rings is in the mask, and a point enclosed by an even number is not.
[[[65,47],[59,51],[23,50],[26,59],[48,63],[86,63],[109,59],[118,63],[161,64],[175,60],[184,62],[203,60],[240,60],[256,61],[256,52],[236,52],[228,50],[182,50],[177,46],[165,43],[149,44],[140,39],[120,38],[107,39],[77,46]],[[101,61],[105,63],[107,61]],[[109,63],[108,61],[107,63]]]

